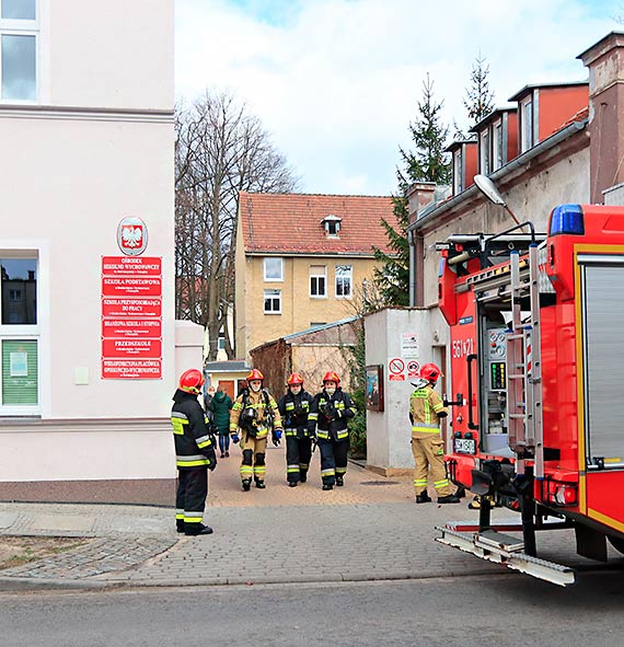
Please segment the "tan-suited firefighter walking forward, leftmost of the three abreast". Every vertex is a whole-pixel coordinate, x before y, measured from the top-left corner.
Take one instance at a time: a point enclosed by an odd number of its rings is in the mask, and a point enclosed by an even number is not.
[[[252,476],[257,488],[266,487],[264,478],[267,437],[270,431],[275,447],[280,443],[281,417],[277,403],[268,391],[263,389],[264,376],[261,371],[253,369],[246,380],[249,389],[243,390],[232,406],[230,435],[234,443],[241,441],[241,481],[243,489],[249,492]]]

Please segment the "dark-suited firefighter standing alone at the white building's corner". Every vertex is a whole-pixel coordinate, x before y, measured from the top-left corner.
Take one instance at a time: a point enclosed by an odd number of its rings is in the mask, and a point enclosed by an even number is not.
[[[208,495],[208,470],[217,466],[213,436],[197,400],[203,384],[201,371],[184,371],[171,409],[177,464],[175,525],[177,532],[187,535],[212,533],[212,529],[201,522]]]

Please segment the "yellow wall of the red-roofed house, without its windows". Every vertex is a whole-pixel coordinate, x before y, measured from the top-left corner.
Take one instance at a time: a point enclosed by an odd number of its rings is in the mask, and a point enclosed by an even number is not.
[[[373,258],[330,256],[282,256],[284,280],[264,280],[265,256],[236,258],[236,356],[252,348],[309,328],[357,314],[363,279],[372,279]],[[326,297],[310,297],[310,267],[326,267]],[[336,298],[336,265],[353,267],[351,298]],[[239,275],[244,275],[240,276]],[[281,313],[265,314],[264,290],[281,290]]]

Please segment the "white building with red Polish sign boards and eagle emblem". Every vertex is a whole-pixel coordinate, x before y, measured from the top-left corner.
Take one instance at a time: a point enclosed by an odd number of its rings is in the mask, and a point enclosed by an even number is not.
[[[201,331],[174,321],[173,104],[173,0],[0,0],[0,489],[13,498],[34,482],[83,493],[175,476],[171,395],[187,362],[200,368]],[[147,231],[123,250],[128,217]]]

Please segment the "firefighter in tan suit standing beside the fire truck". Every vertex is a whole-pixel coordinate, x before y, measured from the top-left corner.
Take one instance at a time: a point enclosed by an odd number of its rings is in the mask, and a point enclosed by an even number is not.
[[[439,504],[459,504],[452,494],[444,467],[444,443],[440,436],[440,419],[449,415],[440,394],[434,389],[440,369],[435,363],[426,363],[420,369],[420,380],[414,384],[416,391],[409,398],[409,421],[412,423],[412,453],[414,454],[414,489],[416,502],[427,504],[428,471],[431,470],[434,486]]]

